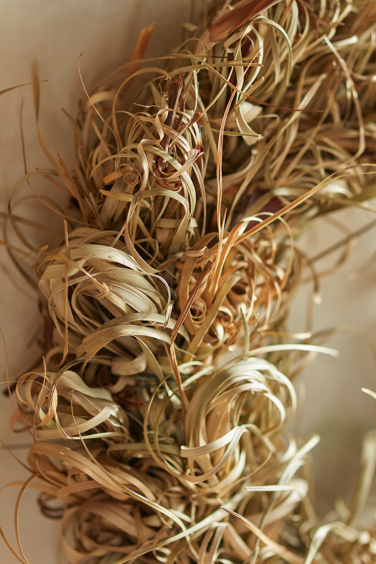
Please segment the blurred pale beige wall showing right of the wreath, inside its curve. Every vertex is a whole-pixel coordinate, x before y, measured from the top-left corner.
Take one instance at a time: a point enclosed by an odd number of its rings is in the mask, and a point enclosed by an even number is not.
[[[360,209],[340,211],[333,217],[351,231],[373,219]],[[298,244],[314,256],[343,237],[337,228],[320,219]],[[339,351],[339,358],[319,355],[299,378],[307,395],[302,436],[314,432],[321,435],[313,453],[321,512],[333,508],[335,497],[351,497],[362,436],[374,425],[375,402],[361,387],[376,390],[376,364],[370,348],[376,343],[376,267],[370,267],[354,280],[352,275],[375,250],[376,228],[356,241],[350,258],[336,274],[322,279],[322,303],[313,306],[315,331],[344,328],[343,334],[328,341]],[[340,252],[334,253],[319,262],[317,270],[324,271],[333,265],[339,255]],[[294,301],[290,316],[294,331],[304,331],[307,303],[312,303],[311,290],[312,285],[302,287]]]

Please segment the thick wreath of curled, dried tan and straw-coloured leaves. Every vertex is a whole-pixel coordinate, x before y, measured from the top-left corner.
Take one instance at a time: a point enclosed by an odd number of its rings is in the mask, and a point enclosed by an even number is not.
[[[291,380],[312,352],[336,352],[328,333],[286,332],[304,269],[318,301],[315,262],[342,247],[334,271],[376,224],[317,257],[296,241],[331,211],[375,211],[375,21],[371,0],[214,1],[179,49],[143,59],[144,29],[87,92],[73,173],[38,128],[52,169],[25,170],[7,219],[34,257],[14,213],[27,181],[64,235],[36,257],[44,364],[14,386],[12,425],[34,439],[19,500],[37,488],[62,517],[70,564],[376,561],[360,520],[376,435],[352,505],[321,525],[306,461],[318,438],[287,425]],[[37,76],[34,99],[38,118]],[[38,176],[73,211],[40,196]],[[6,229],[3,244],[31,281]]]

